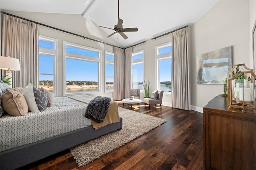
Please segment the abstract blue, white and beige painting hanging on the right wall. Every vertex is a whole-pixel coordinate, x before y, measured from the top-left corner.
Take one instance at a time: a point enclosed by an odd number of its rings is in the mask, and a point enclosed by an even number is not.
[[[198,55],[197,84],[224,84],[232,68],[232,46]]]

